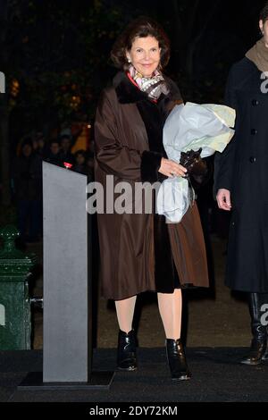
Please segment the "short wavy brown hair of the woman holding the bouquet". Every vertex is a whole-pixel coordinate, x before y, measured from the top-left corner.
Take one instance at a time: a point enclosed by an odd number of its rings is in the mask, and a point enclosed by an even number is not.
[[[126,51],[130,51],[135,38],[154,37],[161,48],[160,63],[165,67],[170,59],[170,40],[161,26],[146,16],[131,21],[127,28],[116,39],[111,51],[111,59],[115,67],[127,70],[130,67]]]

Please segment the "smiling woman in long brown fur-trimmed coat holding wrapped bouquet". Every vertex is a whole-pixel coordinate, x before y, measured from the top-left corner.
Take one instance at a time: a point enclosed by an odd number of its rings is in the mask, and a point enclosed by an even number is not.
[[[124,212],[114,211],[108,197],[114,189],[115,205],[122,181],[133,191],[138,183],[152,185],[187,172],[167,159],[163,148],[163,123],[172,107],[181,103],[179,89],[162,73],[169,55],[163,29],[147,18],[132,21],[113,46],[113,63],[121,71],[113,86],[104,90],[96,111],[95,174],[105,189],[105,211],[98,212],[97,220],[103,295],[115,300],[120,327],[119,369],[137,368],[135,302],[138,293],[153,290],[172,379],[185,380],[190,373],[180,341],[180,289],[208,286],[197,206],[191,206],[180,223],[166,223],[163,215],[155,213],[154,195],[150,212],[144,204],[139,212],[133,209],[136,196]]]

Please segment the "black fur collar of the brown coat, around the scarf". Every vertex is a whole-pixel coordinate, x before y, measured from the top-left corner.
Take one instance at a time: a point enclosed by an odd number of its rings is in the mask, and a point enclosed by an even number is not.
[[[170,93],[167,95],[170,97],[172,95],[172,86],[169,82],[169,79],[163,76],[166,83],[170,88]],[[113,87],[115,88],[116,95],[121,104],[133,104],[139,101],[149,100],[147,94],[139,90],[133,83],[131,83],[127,74],[124,71],[119,71],[113,79]]]

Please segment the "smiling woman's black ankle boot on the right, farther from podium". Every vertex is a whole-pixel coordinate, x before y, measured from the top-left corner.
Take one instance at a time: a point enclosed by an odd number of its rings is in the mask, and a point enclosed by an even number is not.
[[[185,381],[190,379],[191,374],[188,370],[184,349],[180,339],[167,339],[165,343],[166,355],[171,369],[172,380]]]

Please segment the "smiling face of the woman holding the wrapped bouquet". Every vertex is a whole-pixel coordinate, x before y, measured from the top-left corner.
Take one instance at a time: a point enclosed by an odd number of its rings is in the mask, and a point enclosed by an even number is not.
[[[144,77],[151,77],[160,63],[161,48],[154,37],[135,38],[127,59]]]

